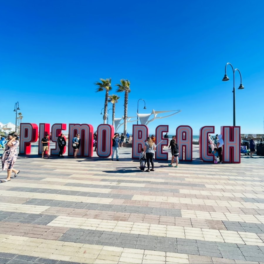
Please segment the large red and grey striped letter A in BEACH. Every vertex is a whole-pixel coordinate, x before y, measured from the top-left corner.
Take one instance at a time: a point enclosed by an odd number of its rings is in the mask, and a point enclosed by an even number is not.
[[[178,126],[176,141],[179,146],[179,160],[192,161],[192,128],[190,126]]]

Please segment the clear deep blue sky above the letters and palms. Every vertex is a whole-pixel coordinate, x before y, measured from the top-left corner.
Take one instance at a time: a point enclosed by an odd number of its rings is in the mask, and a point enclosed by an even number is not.
[[[102,123],[99,78],[129,79],[128,115],[152,109],[182,112],[149,125],[170,133],[189,125],[233,124],[233,77],[238,68],[236,125],[263,133],[264,1],[1,1],[0,121]],[[236,73],[236,88],[240,78]],[[110,94],[116,94],[116,88]],[[124,95],[116,104],[123,114]],[[109,105],[109,108],[112,108]],[[109,111],[111,114],[112,111]],[[111,117],[109,118],[109,120]],[[110,122],[109,122],[110,123]],[[132,125],[128,123],[128,132]]]

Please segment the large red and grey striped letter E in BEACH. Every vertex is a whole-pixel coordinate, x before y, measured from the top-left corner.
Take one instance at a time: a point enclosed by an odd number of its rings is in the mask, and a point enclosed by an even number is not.
[[[160,125],[156,128],[156,153],[155,159],[156,160],[168,160],[168,153],[163,152],[163,146],[168,146],[169,139],[163,138],[163,133],[169,132],[168,125]]]

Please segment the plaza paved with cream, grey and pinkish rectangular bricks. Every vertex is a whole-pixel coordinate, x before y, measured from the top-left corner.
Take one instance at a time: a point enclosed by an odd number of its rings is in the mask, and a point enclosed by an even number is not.
[[[0,263],[264,263],[263,157],[148,173],[130,152],[19,158],[0,184]]]

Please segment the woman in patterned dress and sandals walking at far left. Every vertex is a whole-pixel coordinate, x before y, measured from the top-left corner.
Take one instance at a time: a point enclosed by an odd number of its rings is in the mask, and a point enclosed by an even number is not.
[[[5,145],[5,150],[3,155],[1,156],[2,160],[2,170],[7,170],[7,178],[2,180],[1,182],[9,182],[11,179],[12,172],[15,173],[14,178],[18,175],[20,170],[13,169],[13,166],[17,159],[17,147],[19,145],[19,141],[17,139],[16,133],[10,133],[8,135],[9,141]]]

